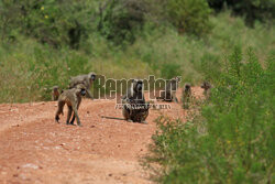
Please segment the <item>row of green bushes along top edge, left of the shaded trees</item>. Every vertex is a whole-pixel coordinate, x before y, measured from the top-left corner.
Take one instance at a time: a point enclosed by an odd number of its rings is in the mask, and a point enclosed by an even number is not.
[[[162,0],[155,0],[158,3]],[[200,35],[209,31],[210,9],[205,0],[173,0],[155,3],[147,0],[21,0],[0,1],[2,41],[15,41],[16,34],[35,37],[55,48],[79,48],[92,33],[110,43],[133,43],[152,14],[162,23],[172,23],[180,32]],[[168,12],[168,13],[166,13]],[[152,29],[158,24],[152,23]]]

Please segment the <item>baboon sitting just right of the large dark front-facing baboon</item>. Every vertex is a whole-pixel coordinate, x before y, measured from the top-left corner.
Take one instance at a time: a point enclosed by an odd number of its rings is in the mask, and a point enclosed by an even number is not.
[[[164,101],[174,101],[178,102],[178,99],[176,97],[176,90],[178,83],[180,82],[180,77],[174,77],[172,78],[165,87],[165,90],[161,93],[161,97],[156,97],[156,99],[162,99]]]

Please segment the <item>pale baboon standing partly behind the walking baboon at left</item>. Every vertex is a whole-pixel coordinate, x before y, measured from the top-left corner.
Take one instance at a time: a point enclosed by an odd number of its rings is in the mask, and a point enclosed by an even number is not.
[[[86,75],[78,75],[76,77],[70,77],[70,83],[69,83],[69,89],[76,87],[78,84],[84,84],[87,90],[87,97],[94,99],[91,93],[90,93],[90,87],[92,83],[96,80],[97,75],[94,72],[90,72],[89,74]]]

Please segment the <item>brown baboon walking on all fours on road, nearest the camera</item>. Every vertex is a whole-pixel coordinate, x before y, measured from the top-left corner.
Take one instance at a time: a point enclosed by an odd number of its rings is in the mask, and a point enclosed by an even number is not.
[[[59,98],[58,98],[58,109],[55,113],[55,120],[56,122],[58,122],[59,120],[59,115],[63,115],[63,109],[65,104],[67,104],[68,107],[68,115],[67,115],[67,120],[66,123],[67,125],[74,125],[75,121],[75,117],[77,118],[77,125],[81,126],[79,117],[78,117],[78,108],[80,106],[81,102],[81,97],[86,95],[86,87],[82,84],[77,85],[75,88],[72,89],[66,89],[64,90]],[[74,111],[74,116],[72,118],[72,120],[69,121],[72,113]]]

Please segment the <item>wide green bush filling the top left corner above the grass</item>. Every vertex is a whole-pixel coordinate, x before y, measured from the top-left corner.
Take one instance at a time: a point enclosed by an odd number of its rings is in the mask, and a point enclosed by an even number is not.
[[[95,14],[92,0],[1,1],[0,6],[3,36],[15,30],[54,47],[69,45],[78,48],[91,30],[88,20]]]

